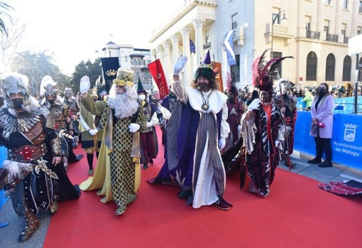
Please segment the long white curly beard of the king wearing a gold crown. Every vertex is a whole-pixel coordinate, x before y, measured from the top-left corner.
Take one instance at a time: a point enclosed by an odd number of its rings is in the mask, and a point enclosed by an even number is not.
[[[110,97],[107,99],[107,104],[114,109],[114,115],[117,118],[124,119],[131,117],[138,109],[137,92],[130,87],[126,89],[124,93],[110,94]]]

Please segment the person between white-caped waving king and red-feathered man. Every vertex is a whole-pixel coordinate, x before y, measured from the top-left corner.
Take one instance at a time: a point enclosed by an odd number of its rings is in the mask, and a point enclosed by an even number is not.
[[[224,162],[225,171],[228,173],[239,163],[239,159],[236,156],[241,154],[239,151],[243,144],[240,135],[240,121],[245,108],[241,102],[238,102],[238,90],[234,86],[229,90],[226,105],[228,107],[228,119],[226,122],[230,126],[230,134],[226,139],[226,146],[222,150],[221,158]]]

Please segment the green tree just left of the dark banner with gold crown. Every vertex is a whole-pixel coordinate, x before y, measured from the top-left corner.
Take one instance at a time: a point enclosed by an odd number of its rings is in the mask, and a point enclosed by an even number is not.
[[[89,77],[91,87],[94,87],[97,78],[102,75],[101,58],[94,60],[94,63],[90,60],[87,60],[87,62],[82,60],[75,66],[75,71],[70,78],[70,88],[75,94],[79,91],[79,82],[84,75]]]

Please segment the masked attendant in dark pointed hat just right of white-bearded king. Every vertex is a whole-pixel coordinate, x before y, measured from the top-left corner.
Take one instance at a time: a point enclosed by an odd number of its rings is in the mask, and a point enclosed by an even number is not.
[[[138,80],[137,87],[138,102],[143,109],[143,114],[147,119],[146,129],[140,132],[141,140],[141,163],[143,169],[148,168],[148,163],[153,163],[158,153],[158,139],[155,131],[155,125],[158,124],[156,109],[147,99],[147,92],[143,89],[141,80]]]

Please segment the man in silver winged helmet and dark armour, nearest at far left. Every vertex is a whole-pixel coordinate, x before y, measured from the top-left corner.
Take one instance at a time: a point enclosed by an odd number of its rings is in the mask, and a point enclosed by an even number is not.
[[[26,220],[18,238],[23,242],[38,229],[40,209],[57,211],[57,174],[50,168],[61,162],[60,139],[45,126],[43,109],[28,93],[28,77],[9,72],[1,80],[6,106],[0,109],[0,145],[7,149],[8,174],[0,185],[11,196],[16,214]]]

